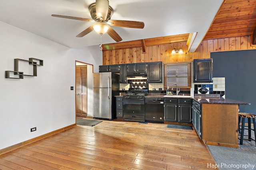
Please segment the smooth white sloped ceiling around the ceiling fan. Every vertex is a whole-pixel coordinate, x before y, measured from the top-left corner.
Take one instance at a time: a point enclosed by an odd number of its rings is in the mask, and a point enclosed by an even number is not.
[[[223,0],[109,0],[112,20],[143,21],[143,29],[112,27],[122,41],[198,32],[193,52],[210,27]],[[70,48],[99,45],[94,31],[76,37],[92,22],[52,17],[52,14],[91,19],[88,6],[95,0],[0,0],[0,21]],[[102,35],[102,44],[115,43]]]

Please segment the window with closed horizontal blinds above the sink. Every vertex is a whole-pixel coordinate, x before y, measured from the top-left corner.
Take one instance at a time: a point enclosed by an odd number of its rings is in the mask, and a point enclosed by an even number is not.
[[[191,88],[191,62],[164,63],[164,88],[177,84],[180,90]]]

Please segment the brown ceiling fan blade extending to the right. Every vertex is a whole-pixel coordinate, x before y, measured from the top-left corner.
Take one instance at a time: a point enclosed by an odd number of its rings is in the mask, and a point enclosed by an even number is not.
[[[144,22],[126,20],[108,20],[108,24],[116,27],[144,28]]]

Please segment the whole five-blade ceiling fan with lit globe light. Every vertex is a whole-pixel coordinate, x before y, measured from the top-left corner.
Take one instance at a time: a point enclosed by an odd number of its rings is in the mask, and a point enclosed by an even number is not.
[[[140,21],[110,20],[113,10],[109,6],[108,0],[96,0],[96,3],[93,3],[89,6],[89,11],[92,16],[92,19],[62,16],[55,14],[53,14],[52,16],[59,18],[68,18],[72,20],[96,22],[84,31],[82,31],[81,33],[79,33],[78,35],[76,35],[76,37],[84,37],[84,35],[94,30],[96,33],[100,35],[107,33],[112,39],[114,39],[116,42],[119,42],[122,41],[122,38],[118,35],[118,33],[116,33],[116,31],[112,27],[110,27],[110,25],[116,27],[140,29],[144,28],[144,22]]]

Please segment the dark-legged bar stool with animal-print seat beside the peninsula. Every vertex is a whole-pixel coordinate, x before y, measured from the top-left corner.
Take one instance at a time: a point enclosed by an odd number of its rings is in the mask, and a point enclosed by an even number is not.
[[[242,125],[240,126],[240,121],[242,118]],[[248,118],[248,126],[245,126],[245,119]],[[251,127],[251,118],[252,118],[252,122],[253,122],[253,129]],[[243,145],[243,140],[247,140],[247,141],[255,141],[256,144],[256,115],[251,114],[251,113],[244,113],[244,112],[238,112],[238,132],[240,135],[240,145]],[[241,128],[240,128],[241,127]],[[244,127],[248,127],[248,128],[244,128]],[[244,135],[244,129],[248,130],[248,135]],[[251,131],[254,131],[254,139],[252,139],[251,137]],[[244,136],[248,136],[248,139],[244,139]]]

